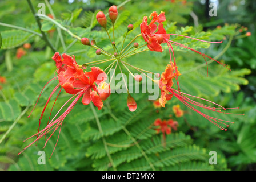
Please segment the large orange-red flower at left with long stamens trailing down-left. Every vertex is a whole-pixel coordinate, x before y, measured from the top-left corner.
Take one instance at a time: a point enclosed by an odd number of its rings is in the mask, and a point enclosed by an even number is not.
[[[75,57],[74,56],[71,57],[71,56],[67,55],[66,53],[64,53],[61,56],[61,55],[59,55],[58,52],[56,52],[52,58],[56,63],[58,76],[54,77],[50,81],[57,79],[59,81],[59,83],[57,84],[57,86],[55,86],[55,88],[53,89],[53,92],[51,92],[51,94],[46,102],[46,105],[43,108],[41,117],[39,118],[38,133],[34,134],[33,136],[31,136],[27,139],[30,139],[35,136],[37,136],[37,138],[32,143],[30,143],[27,147],[29,147],[29,146],[31,146],[31,144],[37,142],[37,140],[39,138],[43,137],[44,135],[46,135],[49,132],[51,132],[51,135],[50,135],[50,137],[51,137],[59,127],[60,127],[60,130],[59,130],[59,132],[60,132],[63,120],[66,118],[67,114],[70,113],[70,111],[73,109],[75,104],[77,104],[77,102],[80,98],[82,98],[82,104],[88,105],[88,104],[90,104],[90,102],[93,102],[93,104],[96,107],[98,107],[98,110],[100,110],[103,107],[102,100],[106,100],[107,97],[109,97],[109,95],[110,95],[110,86],[105,83],[107,75],[102,69],[100,69],[98,67],[91,67],[91,71],[89,71],[89,72],[83,71],[83,69],[81,68],[82,66],[78,65],[77,62],[75,61]],[[47,82],[47,84],[49,84],[49,82]],[[98,88],[97,88],[96,84],[99,86],[100,89],[107,88],[107,90],[103,90],[104,92],[101,92],[98,94]],[[51,121],[50,121],[50,117],[49,117],[46,127],[44,129],[40,130],[40,125],[41,125],[41,121],[42,121],[45,109],[46,109],[47,105],[49,104],[51,97],[53,97],[54,93],[57,92],[58,88],[61,88],[59,90],[59,93],[61,92],[62,89],[64,89],[66,91],[66,93],[71,94],[71,97],[61,107],[61,109],[59,109],[58,113],[54,116],[53,119],[51,119]],[[57,97],[55,98],[55,102],[59,96],[59,93],[58,93]],[[39,95],[39,97],[40,96],[41,96],[41,94]],[[39,100],[39,98],[38,98],[38,100]],[[71,100],[73,100],[73,101],[71,102]],[[54,102],[54,104],[55,104],[55,102]],[[63,111],[63,113],[61,115],[58,116],[58,114],[61,112],[63,107],[65,107],[69,102],[71,102],[71,104],[67,107],[67,109],[65,111]],[[35,105],[37,105],[37,104],[35,104]],[[50,113],[50,115],[51,115],[51,113]],[[29,115],[29,117],[30,117],[30,115]],[[50,139],[50,137],[46,140],[45,146],[46,146],[46,143],[48,142],[48,140]],[[57,140],[57,142],[58,142],[58,140]],[[57,144],[57,142],[56,142],[56,144]],[[27,147],[25,147],[23,149],[23,151]],[[54,149],[55,149],[55,147],[54,147]],[[21,154],[21,152],[19,154]]]

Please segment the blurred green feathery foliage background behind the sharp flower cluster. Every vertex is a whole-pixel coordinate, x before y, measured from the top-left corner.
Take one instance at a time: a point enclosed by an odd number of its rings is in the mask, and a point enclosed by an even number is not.
[[[204,111],[205,114],[231,123],[227,131],[193,112],[177,98],[168,101],[165,108],[149,101],[149,94],[133,94],[138,108],[131,113],[126,105],[127,94],[111,94],[102,110],[81,102],[67,115],[59,130],[45,144],[43,137],[21,155],[19,152],[33,139],[23,140],[37,133],[38,119],[57,81],[43,91],[30,118],[43,86],[54,77],[55,51],[74,55],[78,64],[103,59],[95,50],[75,41],[66,31],[47,19],[40,19],[38,28],[33,11],[45,7],[45,14],[75,35],[96,40],[100,47],[111,52],[106,32],[95,19],[101,10],[105,14],[111,5],[118,6],[115,23],[117,47],[125,36],[128,24],[134,25],[126,38],[128,44],[140,33],[139,24],[153,11],[165,11],[164,27],[167,33],[191,36],[221,44],[197,42],[179,36],[171,40],[197,49],[229,65],[222,67],[210,59],[209,76],[203,57],[188,49],[175,47],[175,58],[181,72],[179,81],[184,92],[203,97],[225,107],[239,107],[231,114]],[[41,3],[41,4],[40,4]],[[211,6],[209,6],[211,5]],[[256,169],[256,1],[253,0],[49,0],[0,2],[0,169],[1,170],[255,170]],[[107,17],[108,19],[108,17]],[[107,29],[113,32],[108,19]],[[111,34],[110,34],[111,35]],[[143,39],[139,45],[145,44]],[[154,73],[164,71],[169,63],[169,50],[162,53],[146,51],[127,58],[127,63]],[[100,67],[106,68],[107,64]],[[123,69],[124,73],[129,73]],[[70,95],[61,92],[53,107],[55,115]],[[50,117],[49,102],[42,121],[46,126]],[[180,105],[182,115],[176,115],[173,106]],[[236,114],[245,115],[236,115]],[[157,133],[155,119],[173,119],[177,129],[166,135]],[[97,122],[101,123],[99,132]],[[50,134],[49,134],[50,135]],[[47,137],[49,137],[47,135]],[[47,139],[46,137],[46,139]],[[34,138],[35,139],[35,138]],[[54,149],[55,143],[58,143]],[[44,151],[45,164],[39,159]],[[210,151],[217,154],[217,164],[210,164]],[[210,159],[212,160],[212,159]]]

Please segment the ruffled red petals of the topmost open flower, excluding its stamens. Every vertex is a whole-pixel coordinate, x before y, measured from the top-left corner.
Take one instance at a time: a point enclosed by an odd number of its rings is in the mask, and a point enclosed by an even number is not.
[[[144,16],[141,23],[141,35],[143,39],[147,42],[147,47],[150,51],[162,52],[162,46],[160,44],[165,43],[165,39],[169,39],[170,35],[166,34],[163,28],[162,22],[165,22],[165,13],[162,11],[159,15],[154,11],[149,16],[151,20],[150,24],[147,24],[147,16]],[[155,23],[158,23],[155,24]],[[157,31],[158,30],[158,31]],[[157,32],[155,32],[157,31]]]

